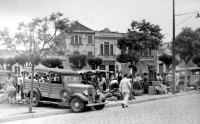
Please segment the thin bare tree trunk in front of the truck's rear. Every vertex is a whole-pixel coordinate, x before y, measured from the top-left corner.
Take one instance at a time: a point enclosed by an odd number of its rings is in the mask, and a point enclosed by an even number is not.
[[[32,76],[31,76],[31,92],[30,92],[30,103],[29,103],[29,113],[32,113],[32,107],[33,107],[33,78],[34,78],[34,64],[32,63],[31,66],[32,69]]]

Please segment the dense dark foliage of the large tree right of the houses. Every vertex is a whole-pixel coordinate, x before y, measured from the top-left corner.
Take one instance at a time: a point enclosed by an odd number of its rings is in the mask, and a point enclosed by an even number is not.
[[[151,24],[142,20],[141,22],[132,21],[131,29],[128,29],[126,36],[118,39],[117,45],[121,49],[118,55],[118,62],[137,63],[144,51],[151,49],[157,50],[162,43],[163,35],[158,25]]]

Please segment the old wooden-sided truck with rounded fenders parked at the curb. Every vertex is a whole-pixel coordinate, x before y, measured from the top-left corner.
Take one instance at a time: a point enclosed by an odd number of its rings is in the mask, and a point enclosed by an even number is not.
[[[33,82],[33,106],[41,102],[52,102],[71,106],[72,111],[82,112],[86,107],[101,110],[105,106],[105,97],[92,85],[81,84],[81,75],[73,70],[58,68],[38,68]],[[24,93],[29,99],[31,91],[30,68],[24,69]]]

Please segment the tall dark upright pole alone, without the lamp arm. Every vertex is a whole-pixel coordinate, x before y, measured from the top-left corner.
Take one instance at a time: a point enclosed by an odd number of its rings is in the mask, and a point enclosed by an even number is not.
[[[173,0],[173,39],[172,39],[172,53],[173,53],[173,67],[172,67],[172,75],[173,75],[173,82],[172,82],[172,94],[176,93],[176,82],[175,82],[175,2]]]

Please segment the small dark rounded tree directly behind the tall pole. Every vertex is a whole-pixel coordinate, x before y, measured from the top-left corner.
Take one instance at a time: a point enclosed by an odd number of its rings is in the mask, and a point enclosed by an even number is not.
[[[163,53],[161,56],[158,57],[158,60],[162,61],[166,65],[168,71],[170,70],[170,66],[173,64],[172,55],[168,55],[166,53]],[[176,61],[175,64],[178,65],[179,60],[176,58],[175,61]]]

